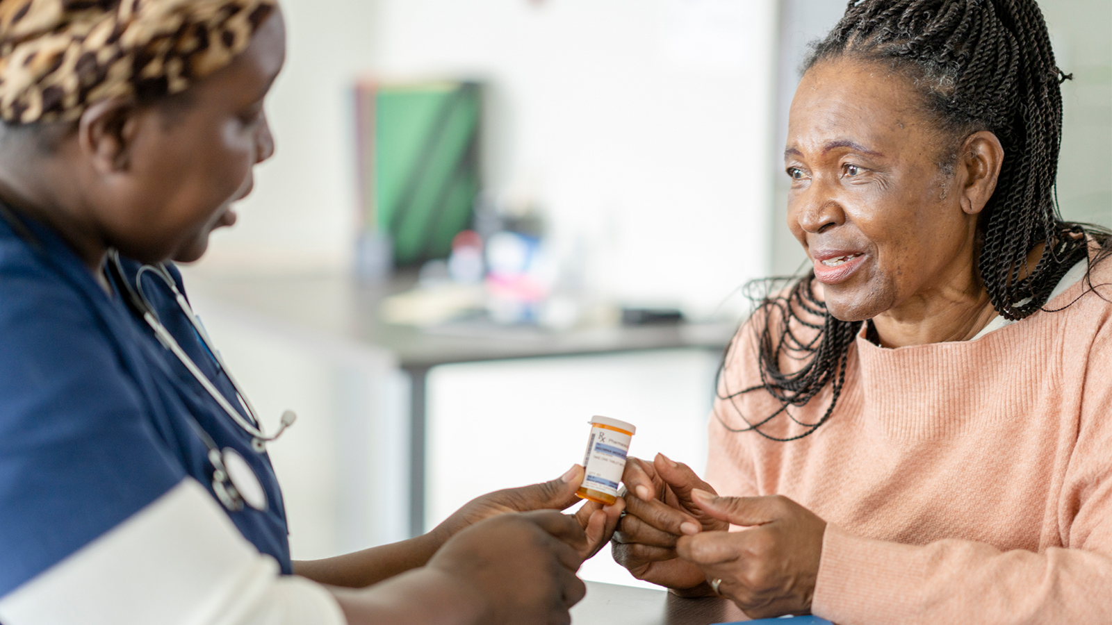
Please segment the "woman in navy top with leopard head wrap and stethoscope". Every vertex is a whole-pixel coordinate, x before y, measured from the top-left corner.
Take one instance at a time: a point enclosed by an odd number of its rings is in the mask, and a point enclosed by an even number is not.
[[[584,594],[619,506],[503,514],[569,506],[580,467],[290,560],[276,436],[167,262],[235,222],[274,153],[285,53],[274,0],[0,0],[6,625],[567,623]]]

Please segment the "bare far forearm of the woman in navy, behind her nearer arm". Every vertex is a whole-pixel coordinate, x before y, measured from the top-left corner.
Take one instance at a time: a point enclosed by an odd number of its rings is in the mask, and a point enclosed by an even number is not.
[[[297,560],[294,572],[329,586],[363,588],[425,566],[444,540],[429,533],[408,540],[315,560]]]

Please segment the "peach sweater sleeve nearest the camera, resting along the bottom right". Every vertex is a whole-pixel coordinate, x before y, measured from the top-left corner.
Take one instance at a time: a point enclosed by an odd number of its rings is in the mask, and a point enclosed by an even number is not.
[[[1083,379],[1058,503],[1064,547],[910,546],[828,525],[814,613],[842,625],[1112,623],[1112,325],[1098,333]]]

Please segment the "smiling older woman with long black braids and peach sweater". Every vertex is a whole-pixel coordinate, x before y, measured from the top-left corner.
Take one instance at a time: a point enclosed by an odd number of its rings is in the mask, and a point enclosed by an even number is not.
[[[1055,210],[1065,78],[1033,0],[850,2],[784,152],[813,269],[726,354],[707,482],[627,465],[618,562],[751,616],[1112,623],[1112,267]]]

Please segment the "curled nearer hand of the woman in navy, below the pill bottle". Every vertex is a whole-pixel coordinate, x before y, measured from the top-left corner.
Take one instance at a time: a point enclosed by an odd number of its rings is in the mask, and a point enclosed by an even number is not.
[[[505,514],[460,530],[429,560],[481,599],[480,623],[566,625],[586,594],[575,572],[586,536],[556,512]]]

